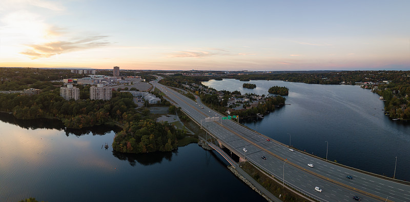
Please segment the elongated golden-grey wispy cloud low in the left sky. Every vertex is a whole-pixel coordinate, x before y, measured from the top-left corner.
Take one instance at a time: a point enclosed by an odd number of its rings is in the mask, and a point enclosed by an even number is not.
[[[30,56],[32,59],[40,57],[50,57],[53,55],[63,54],[76,50],[106,46],[110,44],[109,42],[104,40],[106,37],[107,36],[90,36],[87,38],[77,39],[73,42],[56,41],[38,45],[26,45],[29,48],[26,51],[20,53]]]

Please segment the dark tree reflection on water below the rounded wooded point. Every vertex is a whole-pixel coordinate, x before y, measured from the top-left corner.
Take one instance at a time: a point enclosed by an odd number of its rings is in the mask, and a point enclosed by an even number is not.
[[[178,154],[178,149],[175,149],[171,152],[150,152],[145,154],[129,154],[113,151],[112,155],[117,157],[120,160],[128,160],[128,163],[131,166],[135,166],[138,162],[141,165],[149,166],[154,164],[162,163],[163,159],[168,161],[172,160],[172,155]]]

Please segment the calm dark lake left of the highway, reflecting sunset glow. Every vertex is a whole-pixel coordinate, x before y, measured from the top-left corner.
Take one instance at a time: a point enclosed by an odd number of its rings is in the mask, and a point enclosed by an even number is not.
[[[214,152],[126,155],[112,151],[113,130],[0,113],[0,201],[263,201]]]

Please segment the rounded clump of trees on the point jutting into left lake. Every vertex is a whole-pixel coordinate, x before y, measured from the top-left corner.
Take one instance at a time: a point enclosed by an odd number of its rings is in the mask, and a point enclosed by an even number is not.
[[[130,122],[124,130],[115,134],[112,147],[115,151],[124,153],[171,151],[177,147],[178,139],[185,135],[185,131],[175,129],[167,122],[139,120]]]

